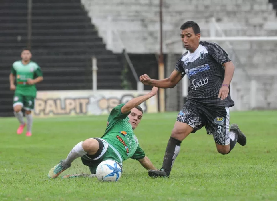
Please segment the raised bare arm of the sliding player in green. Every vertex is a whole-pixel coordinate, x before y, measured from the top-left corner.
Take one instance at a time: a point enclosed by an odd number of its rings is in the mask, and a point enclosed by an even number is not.
[[[152,96],[155,96],[157,94],[157,92],[158,92],[158,88],[153,87],[151,92],[149,92],[148,94],[145,94],[143,96],[138,96],[136,98],[129,100],[123,107],[121,107],[121,113],[123,113],[123,114],[128,113],[134,107],[137,107],[138,105],[140,105],[144,101],[148,100]]]

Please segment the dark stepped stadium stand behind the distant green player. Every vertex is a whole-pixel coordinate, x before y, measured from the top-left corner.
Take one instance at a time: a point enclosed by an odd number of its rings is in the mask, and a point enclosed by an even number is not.
[[[27,46],[27,1],[4,0],[0,7],[0,116],[6,116],[12,115],[11,65]],[[121,89],[117,55],[106,50],[79,0],[33,0],[32,14],[33,60],[45,77],[39,90],[91,89],[92,55],[97,58],[98,89]]]

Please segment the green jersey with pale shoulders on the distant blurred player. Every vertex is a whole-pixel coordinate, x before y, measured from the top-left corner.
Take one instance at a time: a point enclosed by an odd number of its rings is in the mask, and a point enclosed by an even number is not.
[[[26,84],[28,79],[35,79],[42,76],[41,68],[37,63],[30,61],[28,64],[24,65],[21,61],[16,61],[11,68],[11,74],[16,77],[17,86],[15,94],[33,97],[37,96],[36,86],[34,84]]]

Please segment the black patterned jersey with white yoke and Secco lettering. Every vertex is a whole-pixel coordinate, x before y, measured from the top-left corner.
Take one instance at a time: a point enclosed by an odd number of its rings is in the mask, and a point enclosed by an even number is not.
[[[216,43],[201,41],[193,52],[187,51],[176,63],[175,69],[188,76],[187,100],[199,104],[224,107],[234,106],[230,93],[225,100],[218,98],[222,86],[225,68],[222,64],[229,62],[228,54]]]

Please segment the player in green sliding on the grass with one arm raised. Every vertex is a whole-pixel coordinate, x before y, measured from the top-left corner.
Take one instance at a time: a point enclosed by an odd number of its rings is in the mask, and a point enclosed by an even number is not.
[[[157,91],[158,88],[153,87],[148,94],[138,96],[126,104],[120,104],[113,108],[108,117],[104,135],[101,138],[89,138],[77,143],[65,160],[61,160],[59,164],[51,168],[48,177],[56,178],[78,157],[81,157],[83,164],[89,167],[91,175],[73,174],[65,175],[63,178],[94,177],[99,163],[108,159],[116,161],[122,167],[122,162],[131,158],[138,160],[147,170],[157,170],[150,159],[145,156],[133,133],[143,115],[143,111],[138,105],[155,96]]]

